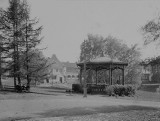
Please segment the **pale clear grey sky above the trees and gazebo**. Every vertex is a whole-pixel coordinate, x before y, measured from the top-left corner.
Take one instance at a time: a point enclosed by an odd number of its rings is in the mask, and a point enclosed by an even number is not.
[[[157,43],[143,46],[141,27],[160,15],[160,0],[28,0],[31,16],[43,25],[46,57],[76,62],[88,34],[111,35],[128,46],[138,44],[142,59],[160,55]],[[7,0],[0,0],[5,8]]]

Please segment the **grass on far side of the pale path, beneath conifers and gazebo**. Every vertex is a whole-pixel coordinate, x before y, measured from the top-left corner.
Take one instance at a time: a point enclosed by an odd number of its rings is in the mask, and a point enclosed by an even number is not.
[[[36,99],[36,98],[53,98],[53,96],[66,95],[66,90],[61,88],[42,88],[33,87],[30,93],[16,93],[14,91],[0,91],[0,100],[10,99]],[[73,94],[74,95],[74,94]],[[82,95],[82,94],[79,94]],[[108,97],[107,95],[101,95],[102,97]],[[114,97],[112,97],[114,98]],[[118,97],[120,99],[127,100],[139,100],[139,101],[153,101],[160,102],[160,93],[137,90],[134,97]]]

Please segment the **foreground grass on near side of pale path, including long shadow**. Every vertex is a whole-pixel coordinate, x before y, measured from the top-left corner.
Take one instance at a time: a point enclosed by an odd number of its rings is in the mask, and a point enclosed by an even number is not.
[[[49,110],[40,118],[17,121],[160,121],[160,110],[141,106],[106,106]]]

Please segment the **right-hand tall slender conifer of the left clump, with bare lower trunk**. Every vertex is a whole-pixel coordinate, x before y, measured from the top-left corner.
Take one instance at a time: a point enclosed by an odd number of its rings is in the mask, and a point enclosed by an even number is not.
[[[29,63],[30,57],[29,52],[34,50],[34,48],[41,42],[40,34],[42,31],[42,26],[35,28],[34,26],[38,23],[36,19],[30,19],[30,8],[26,1],[24,1],[23,8],[25,10],[24,23],[22,25],[21,31],[23,32],[22,40],[24,41],[24,54],[25,54],[25,66],[27,75],[27,85],[30,85],[30,74],[29,74]],[[38,60],[37,60],[38,61]]]

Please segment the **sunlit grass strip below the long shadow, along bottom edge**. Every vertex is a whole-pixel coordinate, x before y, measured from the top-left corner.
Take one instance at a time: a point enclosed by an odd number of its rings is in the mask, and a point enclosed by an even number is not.
[[[125,111],[83,116],[35,118],[21,121],[160,121],[158,111]]]

